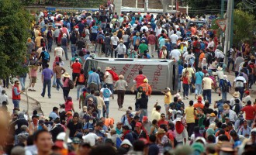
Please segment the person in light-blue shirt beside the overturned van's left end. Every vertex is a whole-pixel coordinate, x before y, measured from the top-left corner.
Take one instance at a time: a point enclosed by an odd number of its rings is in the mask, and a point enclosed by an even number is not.
[[[92,68],[92,74],[89,74],[87,87],[90,88],[90,90],[94,89],[95,91],[101,88],[99,74],[96,73],[95,68]]]

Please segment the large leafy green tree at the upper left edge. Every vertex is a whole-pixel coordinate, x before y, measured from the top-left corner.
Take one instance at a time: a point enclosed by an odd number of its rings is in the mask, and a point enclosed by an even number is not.
[[[19,0],[1,0],[0,19],[0,77],[4,78],[27,71],[21,64],[26,57],[31,22]]]

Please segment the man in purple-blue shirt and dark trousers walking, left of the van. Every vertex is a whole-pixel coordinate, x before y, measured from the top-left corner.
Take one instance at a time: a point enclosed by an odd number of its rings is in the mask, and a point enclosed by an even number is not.
[[[50,98],[50,87],[51,78],[54,76],[54,71],[49,68],[49,64],[45,64],[45,69],[42,71],[42,82],[43,82],[43,92],[41,96],[44,98],[46,88],[48,88],[48,98]]]

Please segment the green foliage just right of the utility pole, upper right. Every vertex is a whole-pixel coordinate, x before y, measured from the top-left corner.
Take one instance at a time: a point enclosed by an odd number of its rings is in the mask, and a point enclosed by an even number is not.
[[[253,38],[256,24],[254,18],[254,15],[240,9],[234,11],[234,45],[239,45],[242,41]]]

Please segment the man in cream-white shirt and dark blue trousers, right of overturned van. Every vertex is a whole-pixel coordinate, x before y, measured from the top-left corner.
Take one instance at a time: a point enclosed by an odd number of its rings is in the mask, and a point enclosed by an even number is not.
[[[209,104],[212,102],[212,85],[213,80],[209,77],[209,74],[206,74],[206,77],[203,77],[202,79],[202,96],[203,99],[206,101],[206,99],[209,101]]]

